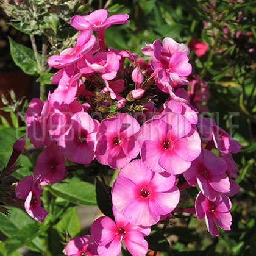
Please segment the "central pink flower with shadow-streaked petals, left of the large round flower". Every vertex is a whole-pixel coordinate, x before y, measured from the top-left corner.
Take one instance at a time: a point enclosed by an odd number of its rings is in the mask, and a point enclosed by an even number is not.
[[[137,132],[140,124],[130,115],[119,113],[104,119],[98,129],[96,159],[113,169],[122,168],[140,152]]]

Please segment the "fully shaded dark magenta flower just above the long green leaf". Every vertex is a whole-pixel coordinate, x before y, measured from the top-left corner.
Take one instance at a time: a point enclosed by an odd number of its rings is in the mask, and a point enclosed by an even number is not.
[[[40,176],[40,185],[57,183],[65,174],[66,160],[57,144],[46,147],[37,157],[34,177]]]

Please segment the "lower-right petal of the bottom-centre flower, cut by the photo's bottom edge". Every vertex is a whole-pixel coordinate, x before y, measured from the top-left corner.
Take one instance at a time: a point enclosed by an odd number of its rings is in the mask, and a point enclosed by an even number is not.
[[[127,232],[124,237],[124,244],[133,256],[146,255],[148,252],[148,242],[144,240],[143,235],[138,231]]]

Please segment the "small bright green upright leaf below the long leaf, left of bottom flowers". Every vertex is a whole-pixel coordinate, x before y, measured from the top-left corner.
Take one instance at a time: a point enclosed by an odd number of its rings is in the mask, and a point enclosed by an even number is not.
[[[79,234],[80,220],[79,216],[77,215],[77,206],[69,207],[54,228],[58,230],[60,234],[69,233],[71,237]],[[63,239],[65,239],[64,236]]]

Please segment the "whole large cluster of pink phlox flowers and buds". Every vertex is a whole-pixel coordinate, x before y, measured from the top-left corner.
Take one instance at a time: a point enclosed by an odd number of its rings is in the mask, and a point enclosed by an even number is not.
[[[38,156],[34,178],[21,180],[16,196],[25,200],[32,218],[43,221],[47,212],[41,207],[41,186],[68,176],[65,158],[86,165],[95,158],[121,168],[112,187],[115,221],[97,218],[91,236],[69,241],[68,256],[117,256],[121,240],[133,256],[146,255],[144,236],[151,226],[180,210],[205,216],[214,236],[215,222],[230,230],[228,196],[239,190],[232,180],[237,169],[231,153],[241,146],[212,119],[198,116],[194,98],[199,86],[193,85],[190,93],[183,86],[191,80],[189,49],[169,37],[146,43],[141,51],[150,57],[149,64],[127,50],[106,51],[105,29],[129,22],[129,15],[107,15],[96,10],[71,18],[71,26],[81,30],[77,44],[49,57],[48,65],[60,69],[51,79],[57,89],[44,102],[33,99],[26,112],[30,142],[46,148]],[[199,79],[194,76],[200,84]],[[169,98],[157,109],[153,99],[158,89]],[[214,147],[221,157],[213,154]],[[180,190],[197,184],[201,191],[195,209],[179,207]]]

